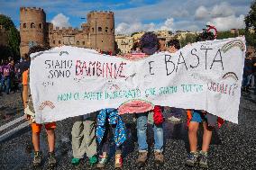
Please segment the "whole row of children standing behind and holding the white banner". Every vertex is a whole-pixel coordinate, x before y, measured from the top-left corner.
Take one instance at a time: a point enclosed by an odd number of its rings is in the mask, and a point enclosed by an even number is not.
[[[199,35],[198,40],[214,40],[214,36],[210,32],[203,32]],[[160,40],[152,32],[146,32],[140,42],[134,44],[131,54],[128,57],[134,56],[145,57],[156,52],[168,50],[170,53],[176,52],[180,48],[178,40],[170,40],[168,47],[161,45]],[[32,52],[37,52],[44,49],[37,49]],[[140,54],[140,55],[138,55]],[[32,104],[32,95],[30,92],[29,81],[29,66],[23,71],[23,106],[25,118],[32,121],[32,144],[34,148],[33,165],[41,165],[40,151],[40,133],[41,124],[34,122],[34,110]],[[170,101],[171,103],[171,101]],[[148,123],[152,125],[154,132],[154,162],[157,166],[164,164],[164,141],[163,141],[163,122],[164,117],[162,107],[155,105],[150,112],[135,112],[136,129],[138,137],[138,152],[139,156],[136,164],[139,167],[145,166],[149,157],[149,148],[147,142],[147,127]],[[178,109],[175,112],[180,112]],[[216,124],[222,124],[223,120],[217,116],[205,111],[187,110],[187,126],[190,152],[187,155],[186,165],[207,168],[208,167],[208,150],[212,138],[212,132]],[[179,114],[179,113],[178,113]],[[172,115],[173,119],[178,115]],[[125,124],[122,117],[118,114],[118,110],[114,108],[105,108],[98,112],[85,114],[73,118],[75,120],[72,134],[72,150],[73,158],[71,163],[78,165],[80,160],[87,155],[89,163],[96,165],[98,168],[104,168],[109,160],[110,141],[114,138],[115,144],[115,161],[114,167],[121,168],[123,166],[122,149],[123,142],[127,139]],[[180,119],[180,118],[177,118]],[[198,150],[197,148],[197,131],[199,124],[203,124],[203,145]],[[49,165],[56,166],[56,158],[54,155],[56,123],[50,122],[44,124],[49,143]],[[111,135],[112,134],[112,135]],[[98,142],[98,144],[96,144]],[[97,153],[99,150],[99,153]],[[98,157],[97,157],[98,156]]]

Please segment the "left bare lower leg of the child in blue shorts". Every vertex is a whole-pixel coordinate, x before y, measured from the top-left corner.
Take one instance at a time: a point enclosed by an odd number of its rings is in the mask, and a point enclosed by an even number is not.
[[[188,139],[190,151],[197,151],[197,130],[199,127],[199,123],[195,121],[191,121],[188,125]]]

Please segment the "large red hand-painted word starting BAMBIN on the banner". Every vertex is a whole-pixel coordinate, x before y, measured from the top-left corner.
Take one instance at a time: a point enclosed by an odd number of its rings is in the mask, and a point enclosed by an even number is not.
[[[76,76],[102,76],[106,78],[125,77],[122,75],[126,63],[102,63],[100,61],[77,60]]]

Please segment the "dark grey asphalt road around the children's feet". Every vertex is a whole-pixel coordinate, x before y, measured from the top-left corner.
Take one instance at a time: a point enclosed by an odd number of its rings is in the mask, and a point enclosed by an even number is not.
[[[228,103],[227,103],[228,104]],[[166,114],[168,116],[168,114]],[[185,121],[185,117],[183,118]],[[128,138],[123,148],[123,169],[137,169],[137,143],[134,132],[133,116],[126,115]],[[214,131],[209,151],[209,169],[256,169],[256,95],[242,94],[239,124],[225,122],[224,126]],[[96,169],[88,166],[85,159],[79,166],[70,164],[72,119],[57,122],[56,169]],[[148,130],[148,141],[152,148],[152,130]],[[188,151],[186,123],[173,125],[169,121],[164,123],[165,136],[165,164],[159,169],[197,169],[184,165]],[[32,169],[32,135],[30,128],[25,128],[13,137],[0,144],[0,169]],[[200,143],[199,143],[200,145]],[[41,133],[41,150],[43,151],[43,165],[39,169],[47,169],[46,133]],[[113,154],[112,154],[113,155]],[[105,169],[114,169],[114,157]],[[144,169],[157,169],[153,164],[151,152],[147,166]]]

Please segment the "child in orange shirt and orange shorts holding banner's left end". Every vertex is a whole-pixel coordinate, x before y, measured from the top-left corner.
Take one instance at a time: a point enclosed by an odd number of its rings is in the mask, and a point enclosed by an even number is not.
[[[40,46],[35,46],[32,49],[30,49],[29,54],[33,52],[39,52],[42,50],[46,50],[41,48]],[[32,144],[34,148],[34,157],[33,157],[33,166],[41,166],[41,151],[40,151],[40,133],[41,133],[41,127],[42,124],[38,124],[34,121],[34,108],[32,103],[32,94],[30,91],[30,71],[29,68],[23,72],[23,107],[24,107],[24,117],[26,120],[31,121],[31,127],[32,127]],[[40,77],[39,77],[40,78]],[[44,124],[44,127],[47,132],[47,139],[48,139],[48,145],[49,145],[49,157],[48,157],[48,163],[50,167],[56,166],[56,158],[54,154],[54,148],[55,148],[55,133],[54,130],[56,128],[55,122],[50,122]]]

